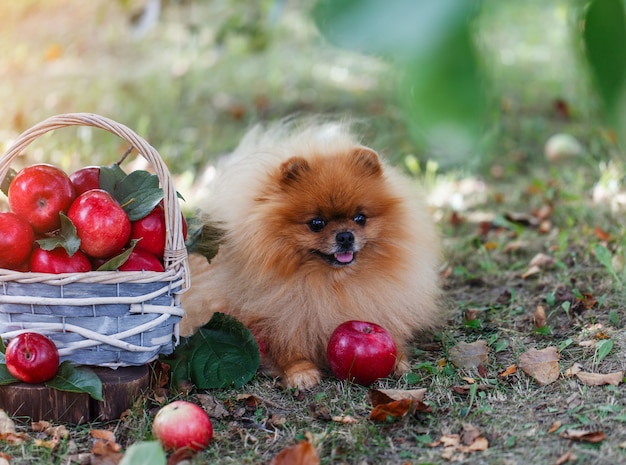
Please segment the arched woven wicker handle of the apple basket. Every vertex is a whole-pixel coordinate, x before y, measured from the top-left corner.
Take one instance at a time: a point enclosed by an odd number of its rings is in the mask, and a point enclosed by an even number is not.
[[[11,162],[20,155],[31,142],[47,132],[67,126],[93,126],[109,131],[131,144],[131,146],[150,163],[159,178],[164,194],[165,252],[163,254],[163,260],[165,269],[183,266],[185,271],[188,271],[182,215],[170,172],[159,153],[142,137],[123,124],[93,113],[66,113],[51,116],[20,134],[2,155],[0,158],[0,182],[6,177]],[[187,277],[189,276],[188,272],[184,274]]]

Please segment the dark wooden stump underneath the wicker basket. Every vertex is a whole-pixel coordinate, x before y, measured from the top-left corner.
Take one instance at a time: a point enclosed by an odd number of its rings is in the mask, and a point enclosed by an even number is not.
[[[13,418],[29,417],[32,421],[79,424],[114,420],[150,385],[148,365],[117,370],[93,367],[93,370],[102,380],[104,401],[43,384],[15,383],[0,386],[0,408]]]

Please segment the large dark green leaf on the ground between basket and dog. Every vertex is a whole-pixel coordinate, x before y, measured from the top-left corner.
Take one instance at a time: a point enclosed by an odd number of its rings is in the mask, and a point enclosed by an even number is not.
[[[223,313],[162,360],[170,365],[172,381],[191,380],[199,389],[241,387],[259,368],[261,355],[254,336],[243,323]]]

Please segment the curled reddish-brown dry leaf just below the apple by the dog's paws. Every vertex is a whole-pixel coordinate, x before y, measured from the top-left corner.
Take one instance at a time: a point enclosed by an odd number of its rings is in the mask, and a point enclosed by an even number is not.
[[[423,402],[425,394],[426,389],[371,389],[369,392],[372,402],[370,420],[387,422],[418,411],[430,412],[431,407]]]

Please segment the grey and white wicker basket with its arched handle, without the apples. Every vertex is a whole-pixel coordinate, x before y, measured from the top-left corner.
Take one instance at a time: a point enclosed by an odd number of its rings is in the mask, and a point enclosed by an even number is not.
[[[150,144],[126,126],[90,113],[53,116],[26,130],[0,158],[0,182],[31,142],[68,126],[109,131],[149,162],[164,193],[165,271],[49,274],[0,269],[0,337],[6,342],[34,331],[55,342],[61,360],[109,367],[143,365],[174,350],[184,314],[180,294],[189,287],[189,269],[176,190]]]

